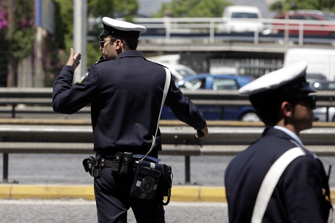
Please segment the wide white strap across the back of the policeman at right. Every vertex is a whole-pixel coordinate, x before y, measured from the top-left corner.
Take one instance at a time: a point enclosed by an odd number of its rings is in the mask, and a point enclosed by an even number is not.
[[[251,223],[261,223],[267,205],[286,167],[297,157],[304,156],[305,152],[300,147],[294,147],[286,151],[276,160],[267,171],[262,184],[260,185],[254,210],[252,212]]]

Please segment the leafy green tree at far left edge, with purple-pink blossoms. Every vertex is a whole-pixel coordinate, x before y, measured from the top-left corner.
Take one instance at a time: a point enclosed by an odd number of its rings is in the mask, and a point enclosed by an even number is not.
[[[7,24],[0,29],[0,86],[14,87],[18,62],[32,53],[34,2],[0,0],[0,9]]]

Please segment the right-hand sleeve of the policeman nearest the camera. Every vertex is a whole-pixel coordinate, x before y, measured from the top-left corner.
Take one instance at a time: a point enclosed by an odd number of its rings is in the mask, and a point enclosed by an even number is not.
[[[288,221],[327,222],[329,186],[322,163],[313,157],[299,157],[287,167],[283,177],[281,193]]]

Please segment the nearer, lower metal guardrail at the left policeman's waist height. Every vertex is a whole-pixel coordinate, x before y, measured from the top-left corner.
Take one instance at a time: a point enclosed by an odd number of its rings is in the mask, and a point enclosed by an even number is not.
[[[35,120],[36,121],[36,120]],[[49,125],[43,125],[43,123]],[[58,124],[57,124],[58,123]],[[185,182],[190,182],[190,157],[201,155],[235,156],[260,137],[261,123],[209,122],[210,134],[194,137],[195,130],[174,121],[161,123],[163,150],[160,155],[185,157]],[[8,182],[10,153],[93,153],[90,122],[78,120],[44,120],[37,122],[10,119],[0,122],[0,153],[3,153],[3,181]],[[248,125],[253,127],[248,127]],[[326,125],[324,125],[326,126]],[[331,127],[331,128],[329,128]],[[334,124],[316,127],[301,133],[304,144],[319,156],[335,156]]]

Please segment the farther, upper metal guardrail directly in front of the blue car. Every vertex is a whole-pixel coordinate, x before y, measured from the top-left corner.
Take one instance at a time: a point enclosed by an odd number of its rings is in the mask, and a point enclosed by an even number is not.
[[[216,106],[224,112],[226,106],[250,106],[248,97],[240,95],[236,90],[182,90],[186,97],[189,97],[197,106]],[[319,91],[317,106],[335,107],[335,91]],[[53,114],[58,117],[60,114],[53,112],[51,108],[52,88],[0,88],[0,113],[11,114],[15,118],[18,113],[30,114]],[[18,106],[24,105],[23,107]],[[2,106],[3,105],[3,106]],[[77,115],[89,116],[89,105],[82,108]],[[222,115],[222,114],[221,114]],[[74,115],[72,115],[74,117]],[[328,116],[328,112],[326,113]],[[328,120],[328,117],[326,117]]]

